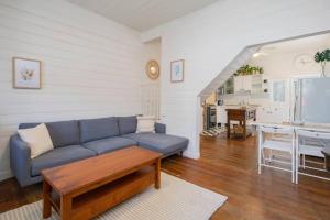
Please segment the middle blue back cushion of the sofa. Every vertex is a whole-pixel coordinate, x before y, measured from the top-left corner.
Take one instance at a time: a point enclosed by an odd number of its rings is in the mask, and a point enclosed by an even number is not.
[[[118,119],[114,117],[80,120],[81,143],[119,135]]]

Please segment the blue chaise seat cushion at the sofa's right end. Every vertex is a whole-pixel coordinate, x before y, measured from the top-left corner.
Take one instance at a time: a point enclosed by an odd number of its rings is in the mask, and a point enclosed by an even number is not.
[[[189,143],[189,140],[186,138],[158,133],[131,133],[123,135],[123,138],[132,139],[140,146],[160,152],[163,156],[184,151]]]

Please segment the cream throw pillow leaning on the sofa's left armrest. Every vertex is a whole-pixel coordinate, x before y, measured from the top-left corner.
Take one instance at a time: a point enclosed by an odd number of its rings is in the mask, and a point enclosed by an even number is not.
[[[31,158],[54,148],[50,132],[44,123],[32,129],[20,129],[18,133],[31,148]]]

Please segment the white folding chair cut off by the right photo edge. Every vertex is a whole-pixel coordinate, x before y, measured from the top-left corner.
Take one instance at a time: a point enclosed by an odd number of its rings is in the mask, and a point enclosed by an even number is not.
[[[330,180],[330,178],[322,177],[315,174],[308,174],[305,170],[308,169],[315,169],[320,172],[327,172],[326,169],[326,158],[322,153],[322,150],[327,146],[327,141],[330,141],[330,133],[329,132],[317,132],[317,131],[309,131],[309,130],[302,130],[298,129],[296,131],[297,138],[296,138],[296,184],[298,184],[298,177],[299,174],[317,177],[321,179]],[[322,160],[322,163],[306,160],[306,156],[314,156]],[[306,162],[309,162],[309,164],[319,164],[322,165],[322,168],[318,168],[315,166],[307,166]],[[299,170],[299,167],[301,167],[301,170]]]

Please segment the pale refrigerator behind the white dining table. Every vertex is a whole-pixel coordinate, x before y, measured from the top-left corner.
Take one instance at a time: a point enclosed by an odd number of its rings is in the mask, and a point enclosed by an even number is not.
[[[294,97],[294,122],[330,123],[330,77],[297,79]]]

